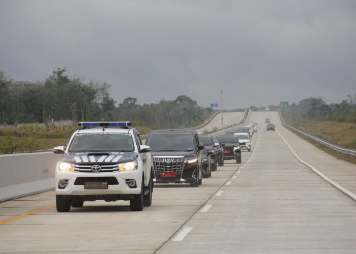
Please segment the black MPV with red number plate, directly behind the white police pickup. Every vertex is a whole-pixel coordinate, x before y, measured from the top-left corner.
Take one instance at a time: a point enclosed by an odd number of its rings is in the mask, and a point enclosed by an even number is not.
[[[156,183],[202,183],[201,150],[198,134],[194,130],[155,130],[147,136],[151,146]]]

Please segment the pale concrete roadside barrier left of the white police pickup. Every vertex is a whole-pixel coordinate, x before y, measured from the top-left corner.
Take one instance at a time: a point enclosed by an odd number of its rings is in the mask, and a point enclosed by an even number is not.
[[[62,154],[0,155],[0,202],[54,189],[54,171]]]

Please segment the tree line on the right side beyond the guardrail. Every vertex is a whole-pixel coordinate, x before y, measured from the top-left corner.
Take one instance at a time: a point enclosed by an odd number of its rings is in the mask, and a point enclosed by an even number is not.
[[[356,123],[356,94],[354,97],[348,95],[340,104],[327,105],[321,97],[311,97],[300,101],[298,105],[293,103],[290,108],[309,120]]]

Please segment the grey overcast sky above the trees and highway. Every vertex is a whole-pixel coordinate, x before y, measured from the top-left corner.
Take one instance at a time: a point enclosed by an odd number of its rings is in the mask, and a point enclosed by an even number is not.
[[[0,0],[0,70],[224,109],[356,94],[356,1]],[[116,104],[116,105],[117,105]]]

